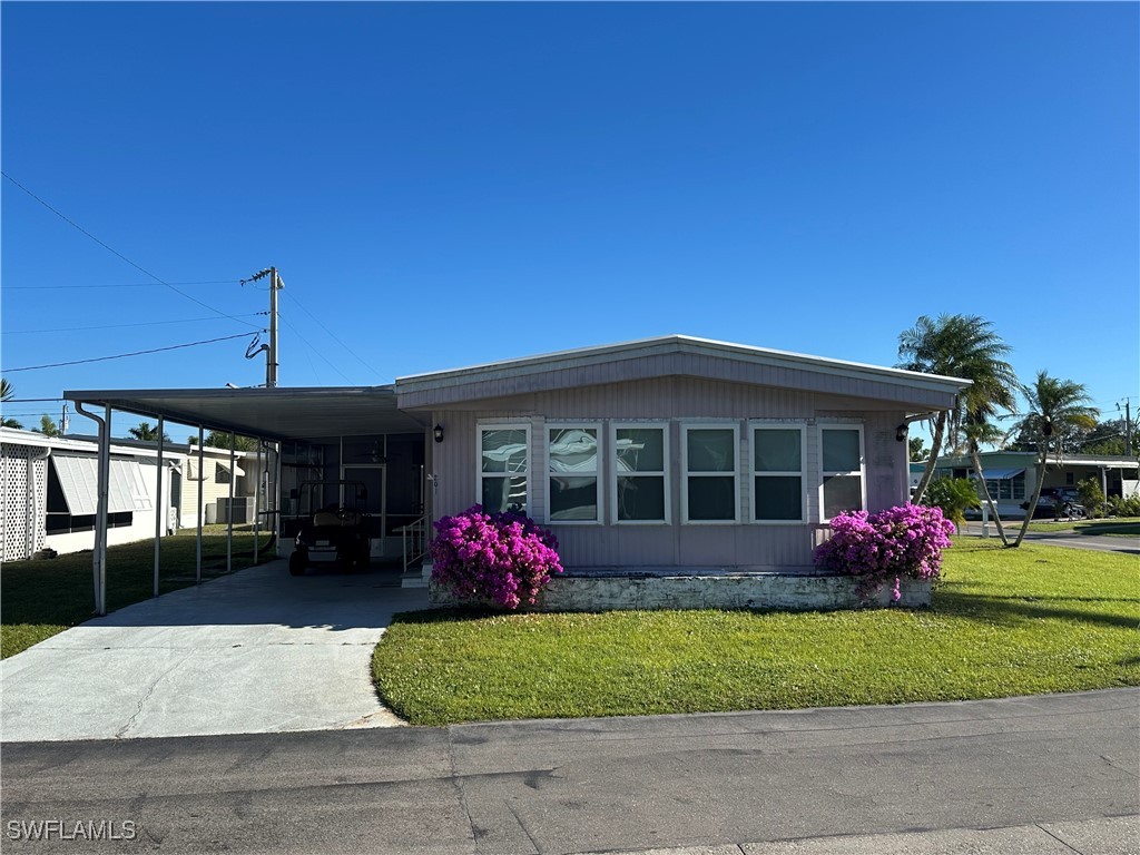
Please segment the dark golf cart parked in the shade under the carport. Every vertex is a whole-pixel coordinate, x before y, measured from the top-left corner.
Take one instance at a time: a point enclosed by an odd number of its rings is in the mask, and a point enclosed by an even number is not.
[[[340,498],[332,504],[325,496],[335,489]],[[301,492],[309,491],[309,507],[319,507],[301,524],[296,548],[288,559],[288,571],[303,576],[309,565],[333,564],[345,570],[368,565],[370,540],[363,508],[368,490],[361,481],[303,481]]]

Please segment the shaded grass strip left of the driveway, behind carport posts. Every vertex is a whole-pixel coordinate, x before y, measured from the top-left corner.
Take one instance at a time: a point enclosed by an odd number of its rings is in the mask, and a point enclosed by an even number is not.
[[[235,527],[236,529],[236,527]],[[253,535],[234,535],[235,570],[253,563]],[[226,572],[226,527],[207,526],[202,538],[202,578]],[[194,529],[162,539],[160,591],[194,584]],[[220,536],[219,536],[220,535]],[[262,560],[270,536],[261,535]],[[154,540],[139,540],[107,548],[107,611],[146,600],[154,593]],[[50,561],[6,561],[0,567],[0,658],[50,638],[95,616],[91,552],[78,552]]]

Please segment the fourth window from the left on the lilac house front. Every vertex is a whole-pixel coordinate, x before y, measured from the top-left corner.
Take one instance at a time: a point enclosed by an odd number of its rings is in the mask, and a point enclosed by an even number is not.
[[[682,520],[736,522],[736,425],[685,425],[682,430]]]

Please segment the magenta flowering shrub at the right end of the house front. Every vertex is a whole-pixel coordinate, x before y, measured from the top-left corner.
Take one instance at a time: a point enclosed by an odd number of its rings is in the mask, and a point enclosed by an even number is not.
[[[938,578],[954,523],[938,507],[906,504],[877,514],[841,513],[831,520],[831,539],[816,547],[815,563],[858,577],[856,589],[863,597],[893,579],[891,600],[897,602],[902,577]]]

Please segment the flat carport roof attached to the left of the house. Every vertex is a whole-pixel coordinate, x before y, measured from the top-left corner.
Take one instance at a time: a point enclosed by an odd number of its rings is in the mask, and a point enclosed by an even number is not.
[[[274,440],[418,433],[424,426],[413,415],[396,408],[396,391],[391,385],[79,390],[64,392],[64,398]]]

